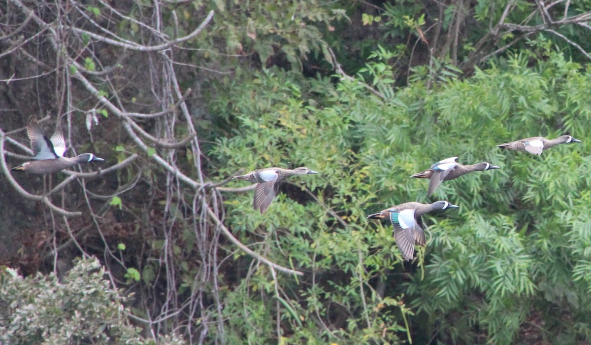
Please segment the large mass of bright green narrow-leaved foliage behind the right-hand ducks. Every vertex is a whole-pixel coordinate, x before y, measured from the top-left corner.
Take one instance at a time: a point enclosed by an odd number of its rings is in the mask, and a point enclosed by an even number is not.
[[[507,343],[535,313],[560,327],[548,330],[557,333],[555,340],[588,339],[587,317],[570,323],[554,313],[554,308],[572,317],[589,312],[584,224],[590,156],[582,154],[588,144],[558,146],[541,157],[495,147],[521,137],[586,132],[591,104],[584,90],[591,75],[556,51],[535,53],[545,57],[535,68],[528,67],[528,54],[514,54],[431,91],[417,79],[392,89],[394,96],[385,102],[355,82],[335,87],[329,80],[294,79],[277,70],[230,90],[230,114],[240,130],[212,152],[227,162],[221,176],[268,165],[307,165],[322,172],[297,182],[320,203],[299,205],[280,195],[261,216],[251,211],[251,195],[226,201],[226,221],[246,242],[262,241],[269,257],[285,257],[284,265],[322,277],[284,285],[280,297],[290,299],[293,309],[288,320],[345,314],[326,321],[323,334],[331,341],[344,334],[353,343],[394,341],[405,338],[404,310],[416,313],[410,317],[411,328],[421,330],[416,336],[437,329],[446,342],[473,343],[485,331],[493,343]],[[426,181],[408,176],[455,155],[466,164],[488,161],[502,169],[443,183],[433,199],[447,199],[460,210],[429,217],[426,252],[420,251],[417,266],[403,267],[391,229],[370,225],[364,216],[401,202],[427,202]],[[307,199],[298,194],[303,192],[287,191]],[[343,228],[327,207],[348,225]],[[408,269],[411,275],[403,273]],[[379,280],[387,286],[383,296],[375,291]],[[274,295],[269,284],[261,277],[247,279],[236,296],[226,298],[241,305],[254,291]],[[400,309],[400,301],[411,309]],[[267,318],[251,316],[261,331],[257,337],[270,331],[263,327]],[[290,331],[291,341],[318,334],[305,326]]]

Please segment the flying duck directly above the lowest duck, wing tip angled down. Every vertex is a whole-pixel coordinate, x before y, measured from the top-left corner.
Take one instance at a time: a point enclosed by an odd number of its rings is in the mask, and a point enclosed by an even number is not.
[[[427,195],[431,195],[431,193],[433,193],[443,181],[453,180],[473,171],[499,169],[498,166],[492,165],[488,162],[481,162],[473,165],[461,165],[456,162],[456,159],[457,157],[451,157],[440,160],[432,165],[430,169],[411,175],[411,178],[431,179],[429,189],[427,190]]]

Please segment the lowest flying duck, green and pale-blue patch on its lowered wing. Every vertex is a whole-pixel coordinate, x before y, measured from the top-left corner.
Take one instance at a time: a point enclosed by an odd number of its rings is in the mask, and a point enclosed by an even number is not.
[[[447,201],[436,201],[433,204],[406,202],[368,215],[369,219],[388,219],[394,225],[394,238],[404,260],[413,260],[414,244],[424,246],[425,224],[421,215],[447,208],[458,208]]]

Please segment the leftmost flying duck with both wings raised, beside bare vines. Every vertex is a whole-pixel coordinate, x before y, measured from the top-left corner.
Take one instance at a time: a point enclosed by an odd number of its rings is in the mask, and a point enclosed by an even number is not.
[[[48,138],[34,118],[31,118],[27,123],[27,136],[31,140],[31,149],[33,149],[35,157],[33,157],[31,162],[14,167],[12,170],[34,174],[48,174],[59,172],[60,170],[80,163],[104,160],[92,153],[83,153],[76,157],[64,157],[66,141],[64,140],[63,134],[60,131],[56,131],[51,136],[51,139]]]

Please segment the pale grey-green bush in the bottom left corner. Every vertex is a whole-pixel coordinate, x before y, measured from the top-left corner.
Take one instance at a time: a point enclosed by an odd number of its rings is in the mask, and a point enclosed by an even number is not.
[[[96,259],[80,260],[61,281],[0,273],[0,342],[6,344],[156,344],[129,324],[126,299]],[[164,337],[161,344],[182,344]]]

